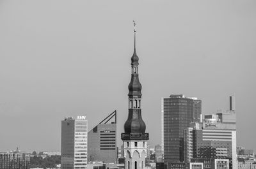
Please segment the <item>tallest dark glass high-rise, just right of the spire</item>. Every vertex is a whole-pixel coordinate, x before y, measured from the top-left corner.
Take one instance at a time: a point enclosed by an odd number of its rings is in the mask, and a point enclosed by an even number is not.
[[[182,94],[171,94],[161,102],[164,163],[184,161],[184,129],[200,121],[202,103]]]

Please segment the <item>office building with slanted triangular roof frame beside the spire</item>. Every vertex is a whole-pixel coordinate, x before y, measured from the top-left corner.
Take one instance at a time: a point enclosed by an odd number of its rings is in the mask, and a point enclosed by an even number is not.
[[[116,163],[116,110],[88,132],[88,162]]]

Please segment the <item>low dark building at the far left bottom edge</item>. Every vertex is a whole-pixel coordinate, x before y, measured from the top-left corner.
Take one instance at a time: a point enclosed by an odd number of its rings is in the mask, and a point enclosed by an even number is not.
[[[0,152],[1,169],[29,169],[30,155],[26,152],[17,151]]]

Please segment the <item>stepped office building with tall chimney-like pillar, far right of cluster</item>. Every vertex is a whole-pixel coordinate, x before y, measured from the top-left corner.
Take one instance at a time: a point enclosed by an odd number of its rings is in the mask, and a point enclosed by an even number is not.
[[[234,96],[230,105],[234,105]],[[237,168],[236,114],[230,110],[204,116],[199,128],[193,129],[193,158],[229,159],[229,168]]]

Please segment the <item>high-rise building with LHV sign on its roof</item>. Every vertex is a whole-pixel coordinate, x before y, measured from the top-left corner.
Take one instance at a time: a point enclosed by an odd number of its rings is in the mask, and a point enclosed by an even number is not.
[[[85,116],[61,121],[61,169],[87,168],[87,120]]]

